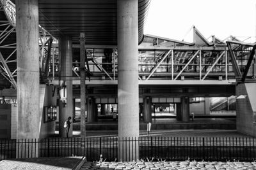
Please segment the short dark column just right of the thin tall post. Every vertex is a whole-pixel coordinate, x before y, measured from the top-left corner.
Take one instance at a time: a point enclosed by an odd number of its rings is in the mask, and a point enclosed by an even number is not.
[[[88,97],[87,102],[87,122],[97,122],[97,104],[95,104],[95,99],[93,97]]]

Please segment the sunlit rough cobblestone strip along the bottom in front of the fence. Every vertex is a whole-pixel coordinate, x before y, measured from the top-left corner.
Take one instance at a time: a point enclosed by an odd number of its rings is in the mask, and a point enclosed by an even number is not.
[[[83,169],[145,169],[145,170],[175,170],[175,169],[256,169],[256,162],[85,162]]]

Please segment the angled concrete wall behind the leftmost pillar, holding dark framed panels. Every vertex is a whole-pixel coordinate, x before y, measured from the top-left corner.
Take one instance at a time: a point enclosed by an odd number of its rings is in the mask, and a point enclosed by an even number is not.
[[[56,106],[57,89],[52,97],[53,86],[40,85],[40,138],[47,138],[55,132],[56,121],[44,123],[44,106]]]

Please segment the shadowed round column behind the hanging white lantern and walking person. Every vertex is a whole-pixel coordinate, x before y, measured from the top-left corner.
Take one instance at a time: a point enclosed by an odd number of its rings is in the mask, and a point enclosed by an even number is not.
[[[65,120],[72,117],[73,113],[73,92],[72,92],[72,40],[68,36],[61,36],[59,39],[59,57],[60,57],[60,80],[65,82],[67,91],[67,103],[60,101],[60,118],[59,118],[59,135],[66,137],[65,128],[63,127]],[[70,125],[68,137],[72,136],[73,124]]]

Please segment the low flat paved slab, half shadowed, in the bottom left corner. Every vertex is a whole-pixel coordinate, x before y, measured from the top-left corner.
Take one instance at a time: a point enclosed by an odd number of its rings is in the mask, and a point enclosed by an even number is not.
[[[79,160],[81,157],[2,160],[0,161],[0,170],[70,170],[76,166]]]

